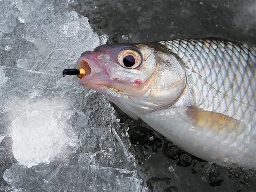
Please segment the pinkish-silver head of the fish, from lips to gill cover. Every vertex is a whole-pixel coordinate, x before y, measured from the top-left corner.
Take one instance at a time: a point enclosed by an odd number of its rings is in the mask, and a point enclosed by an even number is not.
[[[155,44],[102,45],[81,54],[81,67],[87,73],[80,84],[105,95],[135,119],[172,106],[186,84],[177,57]]]

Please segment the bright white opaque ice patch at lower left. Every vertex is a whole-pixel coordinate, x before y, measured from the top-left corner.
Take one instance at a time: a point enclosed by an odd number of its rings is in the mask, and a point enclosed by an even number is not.
[[[12,107],[13,154],[20,164],[31,167],[48,162],[67,146],[76,145],[68,123],[74,113],[70,105],[68,101],[43,99]]]

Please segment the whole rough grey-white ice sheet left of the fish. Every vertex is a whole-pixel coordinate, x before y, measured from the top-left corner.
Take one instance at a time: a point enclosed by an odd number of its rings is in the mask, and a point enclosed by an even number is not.
[[[0,1],[0,191],[140,191],[128,127],[62,78],[107,42],[67,1]]]

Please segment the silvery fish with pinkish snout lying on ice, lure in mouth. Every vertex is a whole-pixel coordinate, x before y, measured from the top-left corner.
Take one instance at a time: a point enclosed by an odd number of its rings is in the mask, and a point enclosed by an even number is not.
[[[219,39],[101,45],[79,83],[190,154],[256,168],[256,48]]]

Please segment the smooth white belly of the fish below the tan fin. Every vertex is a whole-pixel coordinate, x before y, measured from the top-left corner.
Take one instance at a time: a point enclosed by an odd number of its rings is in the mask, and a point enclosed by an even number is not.
[[[168,108],[141,115],[142,120],[187,152],[223,165],[256,168],[255,139],[236,136],[237,130],[196,127],[187,116],[186,107]]]

